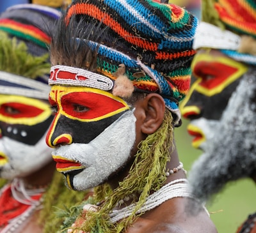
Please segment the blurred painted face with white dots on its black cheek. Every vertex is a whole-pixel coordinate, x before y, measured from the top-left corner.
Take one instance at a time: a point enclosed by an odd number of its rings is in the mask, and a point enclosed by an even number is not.
[[[51,161],[52,149],[45,144],[51,121],[52,111],[44,101],[0,95],[1,177],[24,177]]]

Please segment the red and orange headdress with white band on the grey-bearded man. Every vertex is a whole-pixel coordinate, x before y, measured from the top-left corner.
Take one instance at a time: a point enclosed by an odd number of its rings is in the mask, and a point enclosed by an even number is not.
[[[256,64],[256,2],[203,0],[194,49],[220,49],[236,61]]]

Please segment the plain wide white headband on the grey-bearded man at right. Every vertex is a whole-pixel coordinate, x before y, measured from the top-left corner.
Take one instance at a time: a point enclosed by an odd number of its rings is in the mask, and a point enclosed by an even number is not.
[[[212,49],[227,49],[237,51],[239,49],[241,37],[231,31],[221,30],[207,22],[200,22],[196,29],[193,49],[203,47]]]

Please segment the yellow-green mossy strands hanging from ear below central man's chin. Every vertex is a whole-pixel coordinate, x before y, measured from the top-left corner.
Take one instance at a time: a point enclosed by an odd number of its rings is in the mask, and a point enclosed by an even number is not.
[[[106,200],[100,206],[99,211],[87,213],[87,221],[79,227],[80,230],[104,233],[122,232],[138,218],[138,214],[135,213],[144,204],[150,192],[159,190],[166,181],[166,163],[170,161],[170,149],[172,152],[174,147],[172,121],[172,114],[166,110],[161,127],[141,142],[129,174],[124,181],[119,183],[118,188],[112,191],[107,184],[95,188],[92,202]],[[119,223],[111,223],[109,213],[118,200],[132,193],[139,193],[140,197],[131,216]]]

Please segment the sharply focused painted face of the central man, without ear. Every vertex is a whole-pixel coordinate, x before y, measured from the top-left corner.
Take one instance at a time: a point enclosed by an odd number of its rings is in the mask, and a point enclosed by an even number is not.
[[[58,111],[46,140],[56,147],[52,157],[69,188],[92,188],[122,169],[136,137],[136,117],[124,100],[90,87],[53,86],[50,102]],[[60,130],[67,122],[79,123],[79,128]],[[63,142],[67,145],[61,146]]]

